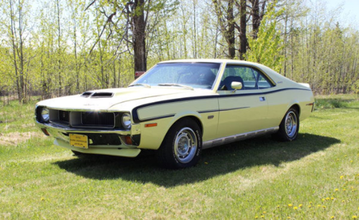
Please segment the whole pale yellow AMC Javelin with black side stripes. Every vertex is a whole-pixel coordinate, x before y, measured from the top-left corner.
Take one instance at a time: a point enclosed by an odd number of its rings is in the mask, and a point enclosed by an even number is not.
[[[305,83],[257,63],[172,60],[127,88],[87,91],[36,105],[35,122],[75,155],[136,157],[156,150],[166,168],[194,166],[202,149],[264,134],[298,136],[313,111]]]

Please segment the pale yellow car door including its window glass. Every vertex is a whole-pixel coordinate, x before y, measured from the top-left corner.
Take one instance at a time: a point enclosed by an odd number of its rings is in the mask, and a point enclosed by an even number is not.
[[[232,82],[241,82],[242,89],[234,91]],[[267,101],[258,90],[251,67],[227,65],[218,88],[218,137],[265,129],[267,126]]]

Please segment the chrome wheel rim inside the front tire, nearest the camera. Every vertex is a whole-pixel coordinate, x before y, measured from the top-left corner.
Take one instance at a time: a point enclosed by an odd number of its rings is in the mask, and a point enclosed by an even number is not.
[[[190,162],[197,151],[197,136],[194,130],[185,127],[176,135],[174,140],[174,154],[182,163]]]

